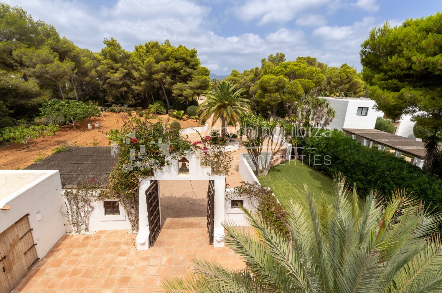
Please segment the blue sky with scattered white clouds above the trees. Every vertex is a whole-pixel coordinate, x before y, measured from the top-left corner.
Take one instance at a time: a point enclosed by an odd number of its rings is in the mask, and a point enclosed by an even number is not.
[[[50,23],[61,37],[99,52],[104,38],[133,50],[147,41],[198,50],[217,75],[261,65],[281,52],[361,70],[359,50],[373,27],[442,10],[441,0],[2,0]]]

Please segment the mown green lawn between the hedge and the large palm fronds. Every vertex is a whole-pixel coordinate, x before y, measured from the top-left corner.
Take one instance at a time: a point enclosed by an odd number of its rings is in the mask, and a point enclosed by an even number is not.
[[[327,202],[331,203],[331,177],[300,161],[289,161],[285,165],[273,167],[266,177],[258,177],[258,180],[261,185],[272,189],[283,206],[293,199],[308,207],[304,184],[309,187],[310,195],[316,203],[321,198],[321,192],[324,192]]]

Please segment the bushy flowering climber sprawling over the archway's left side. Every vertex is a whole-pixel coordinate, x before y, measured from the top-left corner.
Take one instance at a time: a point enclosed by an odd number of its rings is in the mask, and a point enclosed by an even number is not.
[[[118,162],[101,196],[118,199],[132,230],[138,230],[138,179],[153,176],[155,170],[191,152],[191,143],[172,130],[167,121],[152,123],[139,117],[130,117],[121,129],[110,131],[109,139],[114,152],[118,152]]]

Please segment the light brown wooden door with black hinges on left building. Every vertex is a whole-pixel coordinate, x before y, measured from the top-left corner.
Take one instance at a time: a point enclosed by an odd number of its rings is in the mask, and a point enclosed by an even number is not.
[[[38,262],[29,214],[0,234],[0,293],[9,293]]]

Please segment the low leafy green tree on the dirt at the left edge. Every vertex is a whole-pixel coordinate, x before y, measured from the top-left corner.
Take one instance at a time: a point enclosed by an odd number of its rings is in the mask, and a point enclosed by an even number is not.
[[[7,140],[11,143],[24,143],[28,147],[29,139],[38,139],[41,136],[51,136],[56,131],[59,131],[58,125],[32,125],[29,128],[25,126],[7,127],[4,129],[0,139]]]

